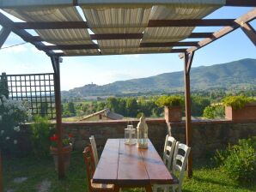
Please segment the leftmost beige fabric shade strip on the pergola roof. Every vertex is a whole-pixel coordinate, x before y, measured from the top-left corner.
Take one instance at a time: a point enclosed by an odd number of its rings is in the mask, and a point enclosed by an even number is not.
[[[75,7],[5,9],[23,21],[82,21]],[[46,42],[58,45],[91,44],[87,29],[40,29],[35,30]]]

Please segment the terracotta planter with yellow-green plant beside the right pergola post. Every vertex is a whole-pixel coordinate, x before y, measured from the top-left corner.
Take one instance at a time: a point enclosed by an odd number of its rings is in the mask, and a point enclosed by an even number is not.
[[[182,120],[181,105],[183,99],[179,95],[161,96],[155,102],[156,105],[164,107],[164,117],[167,123],[180,122]]]

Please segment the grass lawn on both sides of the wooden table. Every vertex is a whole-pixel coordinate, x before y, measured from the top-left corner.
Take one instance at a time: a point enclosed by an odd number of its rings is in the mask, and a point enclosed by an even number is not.
[[[206,161],[210,162],[210,160]],[[71,165],[64,180],[58,180],[58,174],[54,171],[52,157],[35,159],[27,157],[22,159],[3,158],[3,182],[6,192],[60,192],[87,190],[85,165],[82,153],[73,152]],[[123,191],[143,191],[130,189]],[[211,192],[252,192],[256,191],[256,183],[250,186],[241,186],[233,182],[220,169],[207,165],[205,161],[196,162],[192,179],[186,177],[183,184],[183,192],[211,191]]]

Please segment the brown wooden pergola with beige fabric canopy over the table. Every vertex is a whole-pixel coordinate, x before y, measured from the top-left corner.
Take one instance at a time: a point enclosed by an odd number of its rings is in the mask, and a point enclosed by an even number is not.
[[[194,52],[238,28],[256,45],[255,29],[249,24],[256,18],[256,9],[238,19],[203,19],[222,6],[256,7],[256,1],[2,0],[0,9],[25,22],[14,22],[0,13],[0,25],[3,27],[0,31],[0,47],[9,33],[13,32],[51,57],[60,139],[63,135],[59,72],[62,57],[180,53],[180,58],[185,61],[186,144],[191,147],[190,69]],[[82,9],[82,12],[77,8]],[[86,21],[82,19],[82,13]],[[195,27],[222,29],[215,33],[193,33]],[[38,35],[28,33],[27,29],[34,29]],[[61,152],[62,142],[59,140],[59,178],[64,177]],[[188,176],[192,177],[192,154],[188,160]]]

